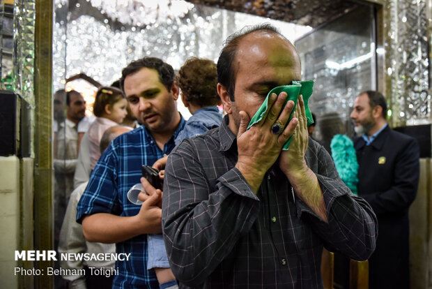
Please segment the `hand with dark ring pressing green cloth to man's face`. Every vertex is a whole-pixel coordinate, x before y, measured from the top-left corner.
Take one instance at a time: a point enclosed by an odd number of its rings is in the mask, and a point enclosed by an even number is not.
[[[298,124],[298,119],[293,118],[286,126],[294,107],[293,101],[288,101],[284,106],[286,97],[286,92],[281,92],[279,96],[271,94],[268,99],[270,110],[258,124],[249,128],[248,131],[249,116],[244,111],[239,112],[240,127],[237,135],[238,161],[236,168],[240,170],[255,193],[259,190],[265,172],[275,163],[281,148],[291,137]],[[281,112],[280,116],[279,112]],[[276,121],[282,126],[286,126],[279,135],[272,133],[272,126]]]

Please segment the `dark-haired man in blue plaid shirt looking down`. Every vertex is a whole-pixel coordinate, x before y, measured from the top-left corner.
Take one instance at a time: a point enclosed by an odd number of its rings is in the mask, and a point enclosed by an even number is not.
[[[116,138],[100,158],[77,206],[77,221],[90,242],[116,243],[116,253],[131,253],[117,262],[114,288],[176,286],[169,264],[147,270],[147,235],[159,234],[162,198],[158,190],[142,205],[129,202],[129,189],[141,180],[141,165],[153,165],[175,147],[185,120],[177,110],[179,88],[173,68],[155,57],[132,61],[122,71],[121,87],[142,126]],[[162,248],[164,249],[164,248]],[[155,274],[156,273],[156,274]]]

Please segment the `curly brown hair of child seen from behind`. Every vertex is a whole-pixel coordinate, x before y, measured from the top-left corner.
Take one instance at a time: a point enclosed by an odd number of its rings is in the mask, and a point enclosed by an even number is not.
[[[213,61],[197,57],[187,59],[176,80],[187,102],[201,107],[221,103],[217,95],[217,67]]]

